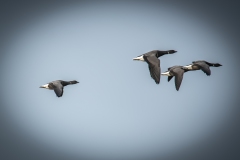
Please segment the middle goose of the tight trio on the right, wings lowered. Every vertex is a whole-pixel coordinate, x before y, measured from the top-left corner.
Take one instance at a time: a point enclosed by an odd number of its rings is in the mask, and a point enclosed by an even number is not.
[[[175,87],[178,91],[182,83],[183,74],[187,71],[188,69],[183,66],[172,66],[168,68],[168,71],[161,73],[161,75],[168,76],[168,82],[175,77]]]

